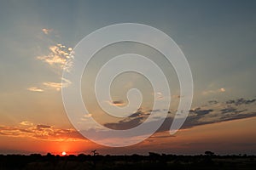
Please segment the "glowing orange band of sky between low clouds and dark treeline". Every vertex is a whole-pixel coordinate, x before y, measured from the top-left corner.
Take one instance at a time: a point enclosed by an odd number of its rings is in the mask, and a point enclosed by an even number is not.
[[[169,135],[169,132],[155,133],[153,137],[142,143],[126,148],[111,149],[95,144],[88,139],[78,141],[51,141],[1,135],[0,145],[4,146],[5,150],[25,150],[28,153],[40,153],[43,155],[51,153],[60,156],[63,156],[62,152],[66,152],[66,156],[88,155],[90,154],[90,150],[98,150],[101,155],[121,153],[140,154],[148,153],[148,150],[174,154],[201,154],[204,150],[212,150],[219,154],[251,153],[251,150],[254,150],[251,145],[256,142],[255,122],[256,117],[252,117],[230,122],[201,125],[181,129],[173,137]],[[12,153],[11,151],[10,153]]]

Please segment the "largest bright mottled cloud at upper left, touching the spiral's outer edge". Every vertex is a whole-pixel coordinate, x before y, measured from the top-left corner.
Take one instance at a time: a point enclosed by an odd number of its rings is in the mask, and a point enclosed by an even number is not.
[[[49,47],[49,54],[38,56],[37,59],[61,70],[70,71],[73,66],[72,53],[72,48],[67,48],[65,45],[58,43]]]

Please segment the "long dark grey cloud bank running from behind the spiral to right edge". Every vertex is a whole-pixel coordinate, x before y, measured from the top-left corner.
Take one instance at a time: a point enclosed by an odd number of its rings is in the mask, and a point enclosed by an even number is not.
[[[239,101],[239,105],[237,105],[237,101]],[[256,116],[256,105],[253,105],[253,102],[255,101],[256,99],[236,99],[226,102],[218,102],[215,100],[213,102],[208,102],[210,105],[204,105],[190,110],[189,116],[187,117],[186,122],[184,122],[182,128],[190,128],[199,125],[227,122]],[[160,111],[162,110],[158,110],[158,112]],[[137,127],[145,121],[150,113],[154,114],[154,111],[137,111],[119,122],[111,122],[104,125],[106,127],[119,130]],[[158,129],[158,132],[168,131],[172,124],[173,117],[174,115],[167,116],[164,123]],[[161,119],[161,117],[159,118]],[[147,126],[150,127],[152,123],[155,123],[154,120],[152,122],[148,122]]]

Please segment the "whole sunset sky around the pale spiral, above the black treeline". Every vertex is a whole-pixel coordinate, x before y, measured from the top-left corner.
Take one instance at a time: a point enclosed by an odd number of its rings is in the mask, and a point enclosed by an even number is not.
[[[1,1],[0,154],[90,154],[95,149],[119,155],[256,154],[255,8],[256,2],[249,0]],[[134,72],[116,77],[113,101],[105,101],[122,107],[127,91],[138,88],[143,102],[131,116],[106,115],[93,94],[94,77],[108,59],[143,54],[160,65],[172,91],[162,126],[141,143],[112,148],[84,138],[69,121],[61,88],[73,83],[62,77],[73,48],[92,31],[118,23],[153,26],[172,37],[186,56],[194,97],[186,122],[174,135],[168,130],[183,98],[176,73],[162,54],[131,42],[110,45],[90,61],[81,81],[84,103],[97,122],[118,130],[136,127],[150,114],[161,116],[163,108],[152,111],[152,96],[166,96],[154,93],[150,82]]]

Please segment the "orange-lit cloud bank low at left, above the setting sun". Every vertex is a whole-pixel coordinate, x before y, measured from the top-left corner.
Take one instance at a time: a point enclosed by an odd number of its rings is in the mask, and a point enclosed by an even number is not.
[[[9,137],[29,137],[32,139],[44,139],[51,141],[78,141],[86,140],[73,128],[55,128],[53,126],[32,122],[20,122],[15,127],[0,125],[0,135]]]

